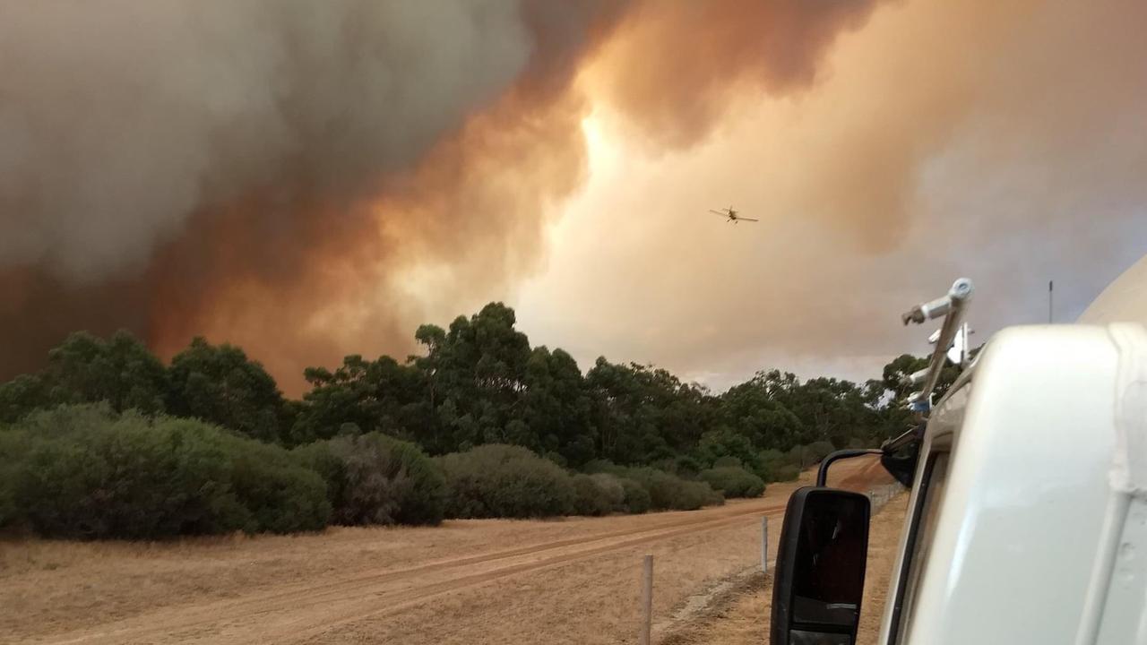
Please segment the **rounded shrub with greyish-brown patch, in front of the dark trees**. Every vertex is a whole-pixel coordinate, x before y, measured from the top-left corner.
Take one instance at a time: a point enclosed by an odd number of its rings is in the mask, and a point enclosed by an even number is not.
[[[416,445],[381,433],[338,436],[294,451],[327,484],[338,524],[436,524],[445,482]]]

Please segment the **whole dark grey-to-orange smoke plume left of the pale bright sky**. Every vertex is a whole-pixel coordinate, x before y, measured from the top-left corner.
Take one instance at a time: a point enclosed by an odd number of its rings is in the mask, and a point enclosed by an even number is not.
[[[812,86],[843,0],[0,2],[0,376],[75,329],[400,352],[544,257],[610,101],[651,149]]]

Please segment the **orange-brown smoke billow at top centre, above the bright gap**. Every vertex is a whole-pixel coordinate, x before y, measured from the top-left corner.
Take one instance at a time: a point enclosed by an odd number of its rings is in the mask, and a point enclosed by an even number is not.
[[[811,86],[872,2],[640,2],[588,65],[595,98],[651,146],[696,143],[731,104]]]

